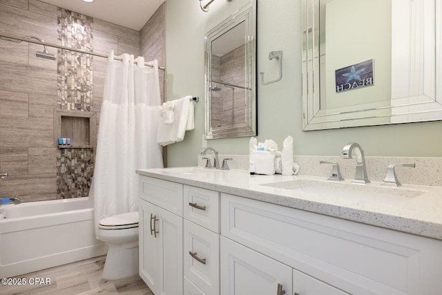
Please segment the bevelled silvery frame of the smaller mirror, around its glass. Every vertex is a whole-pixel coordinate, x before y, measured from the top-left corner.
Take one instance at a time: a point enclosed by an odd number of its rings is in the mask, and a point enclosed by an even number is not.
[[[233,15],[224,19],[218,26],[209,30],[204,35],[204,102],[205,102],[205,133],[206,140],[231,137],[246,137],[258,135],[257,124],[257,92],[256,92],[256,0],[247,3],[246,6],[237,10]],[[245,125],[244,127],[220,127],[212,126],[212,42],[218,37],[224,35],[240,23],[245,23],[244,32],[244,70],[246,85],[244,85],[246,107],[245,107]],[[218,84],[218,82],[213,82]]]

